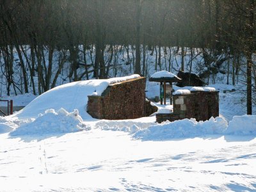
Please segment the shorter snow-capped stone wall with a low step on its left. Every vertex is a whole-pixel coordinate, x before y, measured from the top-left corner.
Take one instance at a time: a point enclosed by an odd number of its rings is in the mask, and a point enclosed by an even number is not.
[[[205,121],[212,116],[219,116],[219,92],[214,88],[192,88],[173,93],[173,113],[157,113],[156,120],[158,123],[184,118]]]

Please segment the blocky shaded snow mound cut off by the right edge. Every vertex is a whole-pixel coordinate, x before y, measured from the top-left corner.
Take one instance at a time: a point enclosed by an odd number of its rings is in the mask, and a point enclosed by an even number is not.
[[[228,124],[227,134],[256,135],[256,115],[234,116]]]

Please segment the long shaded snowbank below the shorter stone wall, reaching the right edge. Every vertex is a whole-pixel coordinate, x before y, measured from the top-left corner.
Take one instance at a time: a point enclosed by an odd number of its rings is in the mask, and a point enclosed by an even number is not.
[[[229,125],[222,117],[212,117],[205,122],[196,122],[194,118],[163,122],[138,131],[133,137],[141,140],[169,140],[209,134],[256,136],[256,115],[234,116]]]

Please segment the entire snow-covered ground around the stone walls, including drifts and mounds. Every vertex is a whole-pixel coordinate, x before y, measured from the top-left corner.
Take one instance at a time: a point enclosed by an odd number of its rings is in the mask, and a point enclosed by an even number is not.
[[[0,117],[0,191],[256,191],[256,116],[241,92],[214,85],[221,115],[205,122],[95,120],[86,95],[112,80],[65,84]]]

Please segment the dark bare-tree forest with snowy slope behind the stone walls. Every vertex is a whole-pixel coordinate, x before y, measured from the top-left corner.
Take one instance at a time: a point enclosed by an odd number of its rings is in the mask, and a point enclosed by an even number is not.
[[[118,57],[123,55],[130,73],[148,76],[147,65],[172,71],[171,60],[178,57],[179,70],[196,72],[208,81],[218,72],[230,76],[228,84],[236,84],[239,74],[244,76],[247,111],[252,114],[255,4],[255,0],[1,0],[0,64],[5,79],[1,83],[8,95],[11,90],[41,94],[58,85],[63,68],[70,82],[118,76],[122,70]],[[147,63],[148,54],[156,58],[154,63]],[[201,62],[195,62],[198,56]],[[186,57],[191,58],[187,63]]]

